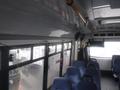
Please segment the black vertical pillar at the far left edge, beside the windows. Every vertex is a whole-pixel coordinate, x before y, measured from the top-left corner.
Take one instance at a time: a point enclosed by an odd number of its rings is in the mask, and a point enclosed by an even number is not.
[[[3,46],[1,50],[0,90],[9,90],[9,48]]]

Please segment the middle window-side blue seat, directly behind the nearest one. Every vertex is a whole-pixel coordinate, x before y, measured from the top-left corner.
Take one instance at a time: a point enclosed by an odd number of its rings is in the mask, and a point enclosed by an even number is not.
[[[73,90],[79,90],[78,85],[80,83],[81,76],[78,68],[72,66],[69,67],[64,77],[70,81]]]

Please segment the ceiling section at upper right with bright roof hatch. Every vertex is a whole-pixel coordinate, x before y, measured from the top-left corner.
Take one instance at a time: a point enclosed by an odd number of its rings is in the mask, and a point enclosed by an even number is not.
[[[98,32],[120,31],[120,0],[91,0],[91,9]]]

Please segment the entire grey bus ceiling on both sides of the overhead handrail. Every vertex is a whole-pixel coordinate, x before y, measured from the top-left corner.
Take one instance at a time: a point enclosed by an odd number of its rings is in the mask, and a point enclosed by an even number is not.
[[[120,31],[120,0],[76,1],[98,33]],[[0,39],[3,35],[4,39],[16,35],[73,38],[78,31],[89,32],[80,24],[64,0],[0,0]]]

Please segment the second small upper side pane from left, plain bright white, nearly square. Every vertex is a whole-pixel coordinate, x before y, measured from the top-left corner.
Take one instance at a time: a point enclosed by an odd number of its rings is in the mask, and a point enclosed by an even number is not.
[[[33,59],[37,59],[45,56],[45,46],[33,47]]]

